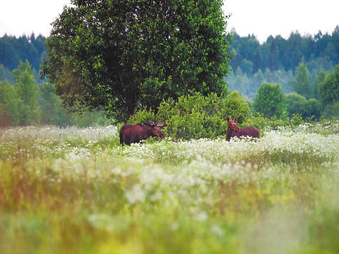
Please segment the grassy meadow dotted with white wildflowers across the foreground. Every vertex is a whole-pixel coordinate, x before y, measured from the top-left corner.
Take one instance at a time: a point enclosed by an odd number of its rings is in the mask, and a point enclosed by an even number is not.
[[[0,130],[0,253],[338,253],[339,121],[118,146]]]

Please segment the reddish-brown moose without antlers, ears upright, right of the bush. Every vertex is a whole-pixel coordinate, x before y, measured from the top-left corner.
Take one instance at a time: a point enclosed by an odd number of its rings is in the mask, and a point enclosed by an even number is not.
[[[250,137],[250,138],[260,138],[260,132],[258,131],[257,128],[254,128],[252,126],[244,127],[244,128],[239,128],[236,125],[236,121],[238,121],[238,116],[233,119],[233,121],[226,116],[226,121],[227,121],[227,131],[226,131],[226,141],[230,141],[231,138],[237,137]]]

